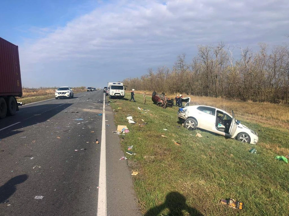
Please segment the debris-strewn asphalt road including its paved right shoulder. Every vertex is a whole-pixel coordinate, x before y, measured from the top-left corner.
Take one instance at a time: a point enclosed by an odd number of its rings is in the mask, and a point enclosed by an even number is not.
[[[102,116],[97,114],[103,113],[103,98],[102,90],[83,92],[73,99],[27,104],[15,116],[0,120],[1,216],[100,216],[98,193],[105,191],[98,188],[104,131]],[[116,130],[113,113],[109,106],[104,111],[107,215],[141,215],[131,171],[126,161],[119,160],[125,155],[120,138],[112,133]]]

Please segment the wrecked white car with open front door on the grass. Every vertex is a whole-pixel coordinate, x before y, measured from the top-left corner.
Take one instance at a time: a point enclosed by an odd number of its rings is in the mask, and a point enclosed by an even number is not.
[[[258,134],[242,125],[224,110],[209,106],[188,106],[179,109],[178,117],[184,122],[184,127],[189,130],[196,128],[211,131],[216,134],[237,139],[243,143],[256,144],[259,140]]]

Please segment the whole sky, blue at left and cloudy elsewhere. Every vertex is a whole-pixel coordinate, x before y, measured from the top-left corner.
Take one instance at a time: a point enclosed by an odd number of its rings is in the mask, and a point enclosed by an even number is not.
[[[197,45],[287,44],[288,0],[2,0],[0,37],[19,47],[22,86],[106,86],[190,62]],[[3,10],[4,9],[4,10]]]

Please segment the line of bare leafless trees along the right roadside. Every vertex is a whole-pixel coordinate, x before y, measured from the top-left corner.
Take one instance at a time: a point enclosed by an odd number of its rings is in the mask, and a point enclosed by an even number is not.
[[[149,68],[140,78],[126,78],[123,82],[138,90],[288,103],[288,46],[259,47],[256,53],[239,47],[235,59],[235,46],[198,46],[190,63],[185,61],[185,54],[179,55],[172,68]]]

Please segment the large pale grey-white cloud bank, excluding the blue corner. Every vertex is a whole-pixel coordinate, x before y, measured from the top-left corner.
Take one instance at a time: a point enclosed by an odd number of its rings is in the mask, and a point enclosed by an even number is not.
[[[102,3],[52,32],[39,29],[43,38],[20,47],[23,85],[61,85],[50,78],[57,73],[70,85],[104,85],[140,76],[148,67],[170,66],[182,53],[191,58],[198,44],[281,44],[289,40],[288,9],[286,0]]]

